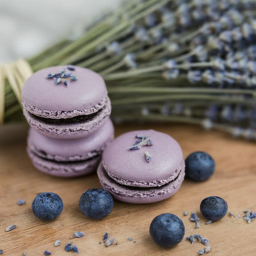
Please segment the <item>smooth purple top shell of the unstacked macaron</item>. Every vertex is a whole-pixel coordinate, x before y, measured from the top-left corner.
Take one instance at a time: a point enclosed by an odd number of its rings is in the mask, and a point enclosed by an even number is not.
[[[136,135],[151,138],[152,146],[140,150],[128,148],[138,140]],[[145,159],[150,153],[151,161]],[[162,186],[174,180],[183,162],[180,145],[167,134],[155,130],[135,130],[120,135],[103,151],[102,164],[108,176],[127,186]]]

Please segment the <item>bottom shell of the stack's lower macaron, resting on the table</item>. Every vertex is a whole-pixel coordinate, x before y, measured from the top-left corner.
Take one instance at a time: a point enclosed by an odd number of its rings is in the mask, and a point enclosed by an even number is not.
[[[87,159],[86,161],[60,163],[39,158],[28,148],[27,152],[36,169],[44,174],[57,177],[78,177],[90,174],[97,169],[98,163],[100,162],[100,156],[96,156],[95,158]]]

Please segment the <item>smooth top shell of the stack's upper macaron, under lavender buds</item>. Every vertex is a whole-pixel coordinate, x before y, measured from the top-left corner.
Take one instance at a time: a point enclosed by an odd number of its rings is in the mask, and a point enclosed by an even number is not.
[[[40,110],[49,111],[49,114],[52,114],[60,111],[84,110],[101,104],[107,95],[102,77],[87,68],[73,67],[74,71],[68,70],[67,65],[51,66],[34,73],[23,86],[23,106],[28,108],[28,111],[36,108],[34,112],[37,114]],[[55,84],[53,78],[47,78],[48,74],[58,74],[64,68],[66,73],[72,73],[78,79],[70,81],[68,86],[65,86],[63,82]],[[50,118],[63,117],[58,117],[57,114],[54,117],[53,114]]]

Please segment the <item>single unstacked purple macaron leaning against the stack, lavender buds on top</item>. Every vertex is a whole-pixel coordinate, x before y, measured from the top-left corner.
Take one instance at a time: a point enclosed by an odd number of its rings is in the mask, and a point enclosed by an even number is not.
[[[174,138],[156,130],[135,130],[106,146],[97,174],[103,188],[120,201],[157,202],[178,191],[185,162]]]

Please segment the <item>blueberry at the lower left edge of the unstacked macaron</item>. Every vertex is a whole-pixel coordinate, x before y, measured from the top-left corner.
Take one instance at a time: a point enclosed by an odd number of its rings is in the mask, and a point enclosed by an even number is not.
[[[108,216],[113,206],[111,194],[100,188],[90,188],[82,194],[79,200],[82,213],[90,218],[100,219]]]

